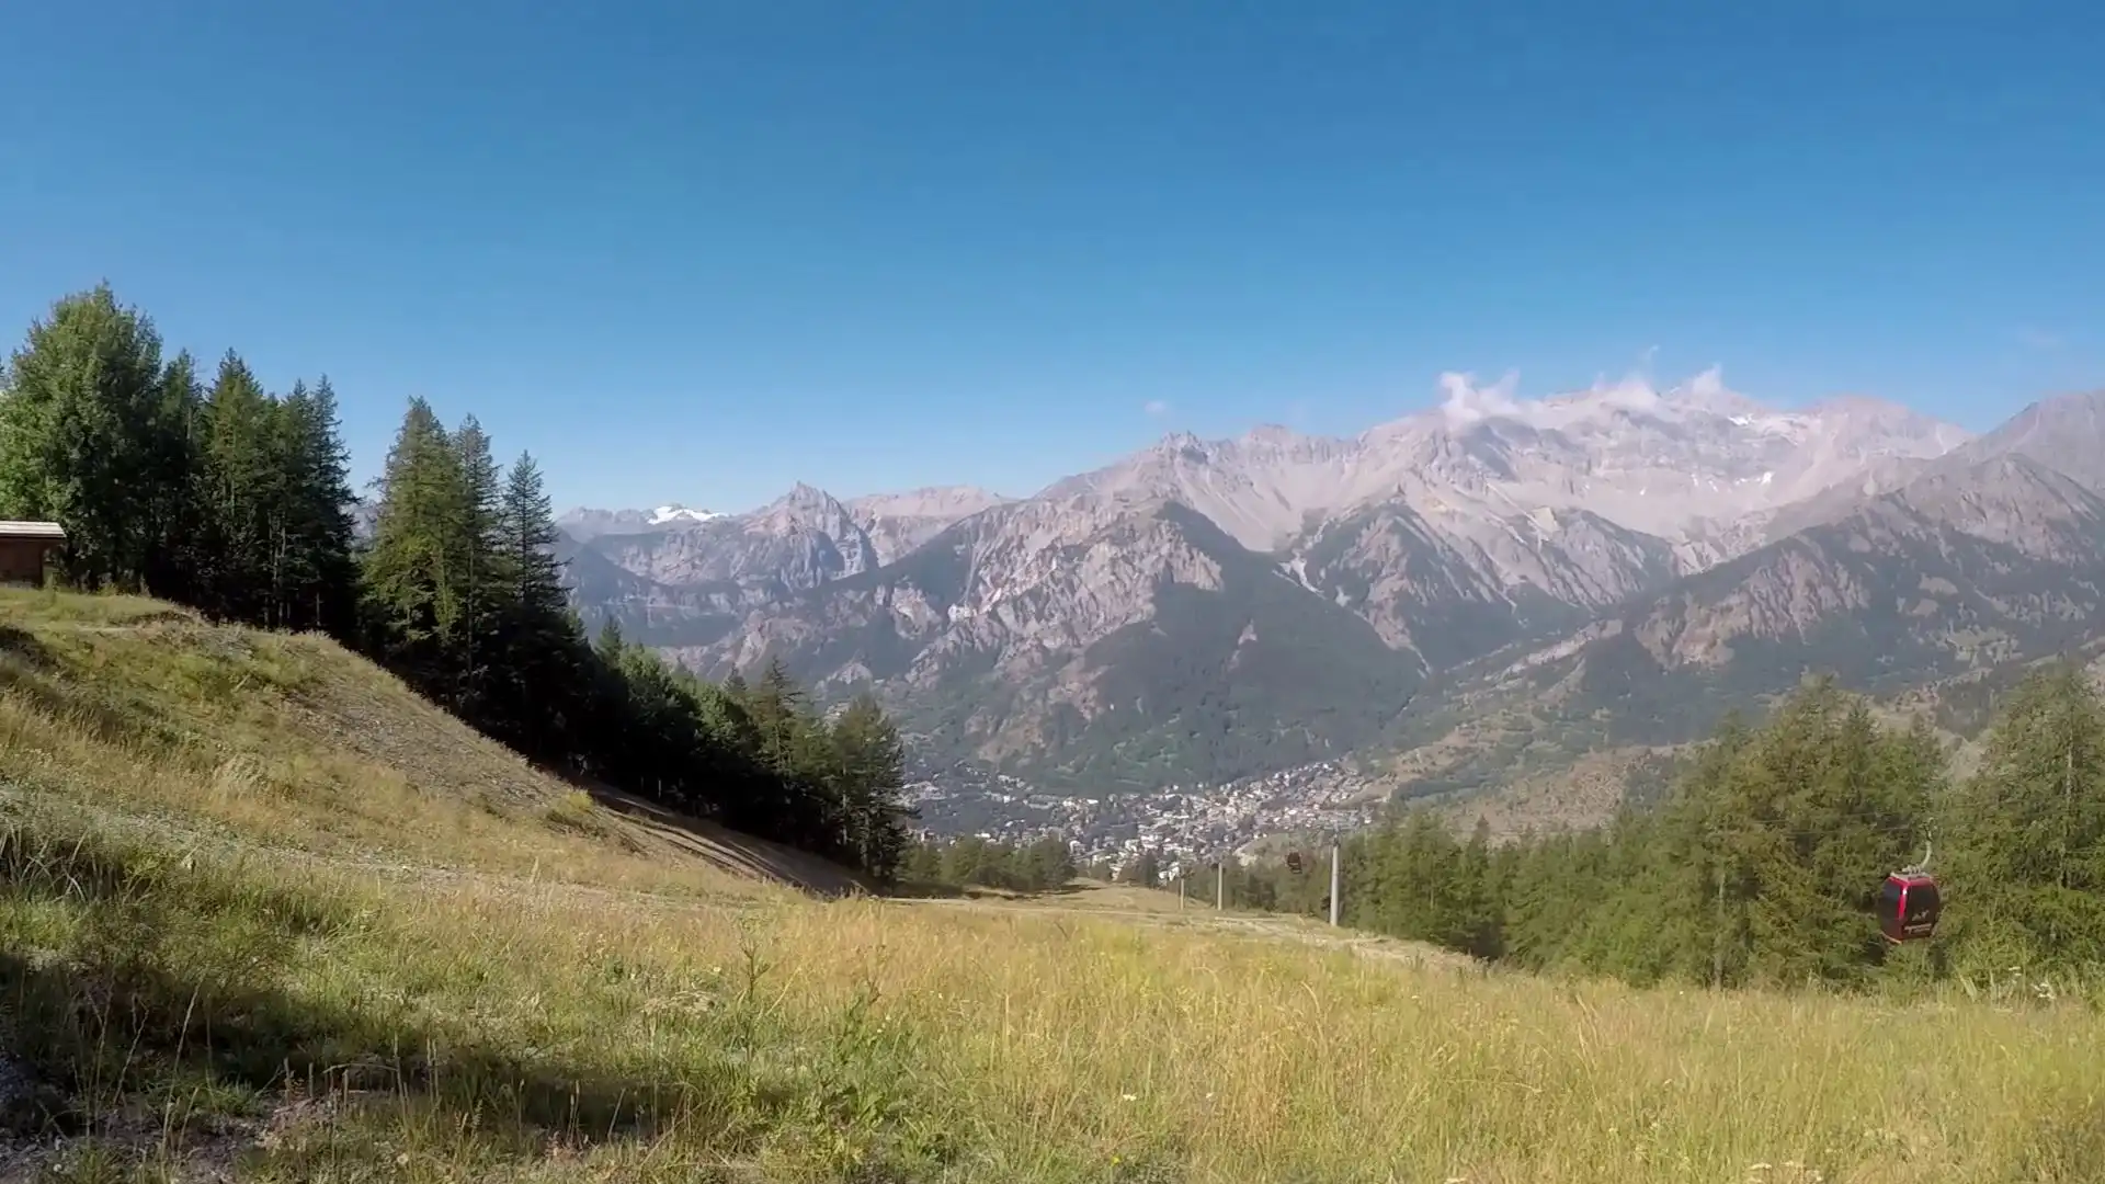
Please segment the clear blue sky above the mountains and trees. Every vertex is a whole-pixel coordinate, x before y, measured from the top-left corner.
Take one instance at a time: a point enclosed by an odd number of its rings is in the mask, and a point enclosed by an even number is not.
[[[560,506],[1027,493],[1724,364],[1981,430],[2105,383],[2094,4],[8,4],[0,324],[410,394]],[[1154,413],[1147,404],[1156,407]]]

